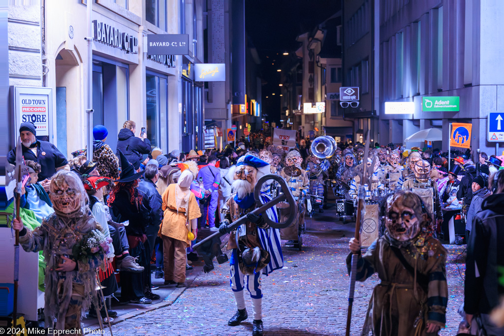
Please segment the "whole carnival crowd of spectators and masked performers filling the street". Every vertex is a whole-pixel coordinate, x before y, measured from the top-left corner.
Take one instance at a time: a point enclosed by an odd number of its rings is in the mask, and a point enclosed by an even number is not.
[[[433,335],[445,327],[448,252],[440,241],[447,240],[453,217],[465,223],[458,239],[467,243],[459,332],[504,335],[504,278],[498,271],[504,267],[504,156],[402,144],[374,144],[365,153],[361,143],[326,141],[326,147],[333,146],[326,158],[312,146],[320,138],[300,139],[296,148],[284,150],[260,132],[222,151],[163,153],[129,120],[117,135],[115,153],[107,145],[115,135],[95,126],[93,160],[88,161],[85,149],[66,158],[49,142],[37,140],[32,123],[22,123],[19,132],[29,178],[13,227],[20,230],[25,250],[43,252],[39,288],[45,291],[46,326],[80,329],[86,311],[94,317],[117,316],[106,310],[103,297],[116,293],[119,285],[122,302],[160,299],[151,283],[151,262],[155,278],[164,278],[165,286],[186,287],[192,262],[203,258],[204,271],[210,272],[214,257],[227,261],[220,238],[201,250],[192,248],[220,232],[230,233],[230,285],[237,304],[228,324],[248,317],[246,287],[253,302],[253,335],[262,335],[261,274],[281,268],[283,258],[279,230],[254,213],[256,182],[265,174],[279,175],[298,206],[304,207],[306,197],[321,199],[311,211],[323,213],[328,193],[350,204],[356,200],[363,172],[368,172],[364,199],[380,207],[380,237],[365,253],[357,239],[349,248],[358,254],[357,281],[377,273],[382,282],[373,292],[363,332]],[[8,160],[17,164],[16,150]],[[270,191],[263,190],[264,203],[272,198]],[[15,212],[14,203],[10,211]],[[299,212],[299,230],[305,213]],[[244,215],[246,224],[231,226]],[[267,215],[278,222],[282,211],[270,209]],[[288,239],[301,244],[299,238]],[[350,269],[350,259],[347,263]],[[95,290],[97,278],[101,294]]]

